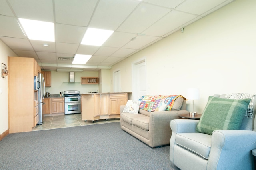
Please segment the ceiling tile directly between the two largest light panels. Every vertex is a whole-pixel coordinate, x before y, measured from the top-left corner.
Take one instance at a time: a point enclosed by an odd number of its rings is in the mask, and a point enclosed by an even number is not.
[[[66,24],[56,24],[55,28],[56,42],[66,42],[72,44],[80,44],[86,30],[86,27]]]

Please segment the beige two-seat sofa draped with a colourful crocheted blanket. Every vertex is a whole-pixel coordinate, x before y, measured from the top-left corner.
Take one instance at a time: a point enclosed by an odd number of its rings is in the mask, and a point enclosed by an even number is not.
[[[182,97],[174,101],[170,111],[148,112],[139,109],[138,114],[131,114],[122,112],[124,107],[124,105],[120,106],[120,124],[122,130],[152,148],[169,144],[172,134],[170,121],[172,119],[178,119],[179,114],[188,113],[186,110],[186,100]]]

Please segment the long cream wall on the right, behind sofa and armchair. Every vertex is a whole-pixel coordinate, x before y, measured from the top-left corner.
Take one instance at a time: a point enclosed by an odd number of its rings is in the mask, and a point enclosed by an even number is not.
[[[148,94],[186,97],[188,88],[199,88],[198,112],[210,95],[256,94],[255,6],[255,0],[236,0],[115,64],[110,76],[120,68],[122,91],[132,91],[132,63],[146,58]]]

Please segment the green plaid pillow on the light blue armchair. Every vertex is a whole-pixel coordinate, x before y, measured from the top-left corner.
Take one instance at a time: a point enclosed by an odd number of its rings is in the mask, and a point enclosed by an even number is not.
[[[238,130],[250,103],[246,99],[225,99],[209,96],[196,132],[212,134],[214,130]]]

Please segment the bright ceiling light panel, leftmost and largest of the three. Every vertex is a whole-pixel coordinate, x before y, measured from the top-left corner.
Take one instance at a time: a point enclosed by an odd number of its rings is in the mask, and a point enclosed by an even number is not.
[[[55,41],[54,24],[52,22],[23,18],[19,18],[19,20],[30,40]]]

